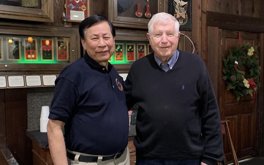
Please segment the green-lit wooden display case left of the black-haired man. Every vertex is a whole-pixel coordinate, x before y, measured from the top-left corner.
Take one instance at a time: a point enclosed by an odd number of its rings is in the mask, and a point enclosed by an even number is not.
[[[0,75],[59,74],[80,57],[78,28],[0,23]]]

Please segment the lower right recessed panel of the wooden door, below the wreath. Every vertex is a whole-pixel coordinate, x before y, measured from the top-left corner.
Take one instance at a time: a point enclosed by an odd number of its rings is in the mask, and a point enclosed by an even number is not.
[[[253,138],[253,121],[252,121],[252,113],[242,114],[241,115],[241,124],[243,125],[243,129],[241,130],[241,134],[243,135],[241,138],[241,150],[252,148],[252,138]]]

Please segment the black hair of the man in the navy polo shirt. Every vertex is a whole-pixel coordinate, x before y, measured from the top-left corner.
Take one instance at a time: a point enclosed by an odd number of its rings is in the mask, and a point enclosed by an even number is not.
[[[101,21],[107,22],[109,24],[110,29],[111,29],[111,33],[112,33],[113,37],[115,37],[115,28],[114,28],[113,24],[108,21],[107,17],[102,16],[102,15],[92,15],[92,16],[84,19],[79,26],[79,34],[80,34],[81,39],[85,40],[86,28],[89,28],[93,24],[95,24],[97,22],[101,22]]]

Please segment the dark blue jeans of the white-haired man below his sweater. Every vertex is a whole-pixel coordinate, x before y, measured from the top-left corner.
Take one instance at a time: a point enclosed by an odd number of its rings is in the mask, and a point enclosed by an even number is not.
[[[163,160],[136,158],[136,165],[200,165],[200,159]]]

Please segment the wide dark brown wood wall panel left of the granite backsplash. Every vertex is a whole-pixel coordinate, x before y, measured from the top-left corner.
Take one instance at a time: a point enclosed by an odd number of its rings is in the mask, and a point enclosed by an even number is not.
[[[32,142],[26,136],[28,88],[5,89],[6,143],[19,164],[32,164]]]

